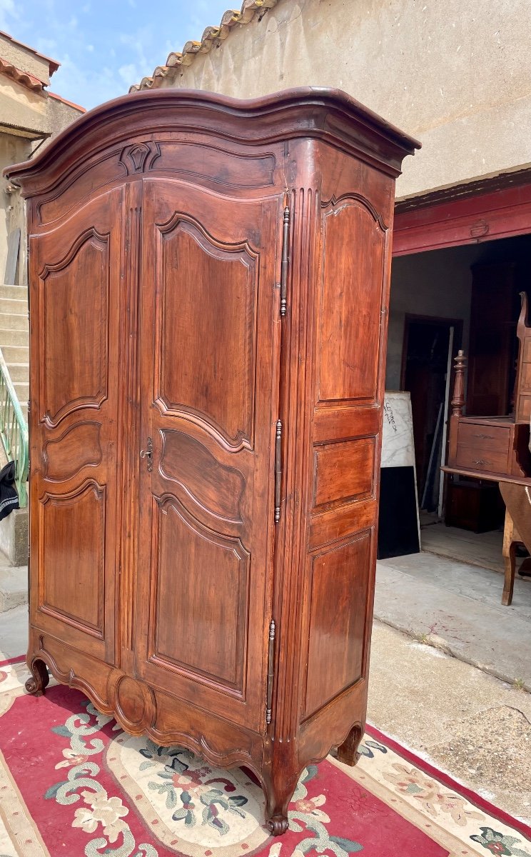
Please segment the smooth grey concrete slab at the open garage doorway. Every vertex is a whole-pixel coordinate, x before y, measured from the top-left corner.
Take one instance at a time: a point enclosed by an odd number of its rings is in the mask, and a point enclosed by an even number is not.
[[[380,560],[374,615],[531,692],[531,578],[510,607],[501,574],[435,554]]]

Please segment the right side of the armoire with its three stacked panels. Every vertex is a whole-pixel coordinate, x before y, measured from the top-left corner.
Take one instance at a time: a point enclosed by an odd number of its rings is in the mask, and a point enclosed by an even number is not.
[[[307,662],[301,720],[315,721],[318,732],[329,728],[318,723],[328,716],[331,700],[354,692],[365,677],[381,430],[389,213],[377,210],[356,185],[355,170],[349,174],[349,166],[343,166],[342,186],[321,209],[314,321],[313,485],[308,494]],[[375,199],[385,200],[383,177],[373,173],[372,184],[367,184]],[[352,710],[349,717],[355,716]],[[341,737],[340,719],[334,728]]]

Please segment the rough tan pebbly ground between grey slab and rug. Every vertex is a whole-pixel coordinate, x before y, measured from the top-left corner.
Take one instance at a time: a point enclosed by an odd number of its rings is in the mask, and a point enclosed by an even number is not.
[[[367,718],[531,824],[531,694],[376,620]]]

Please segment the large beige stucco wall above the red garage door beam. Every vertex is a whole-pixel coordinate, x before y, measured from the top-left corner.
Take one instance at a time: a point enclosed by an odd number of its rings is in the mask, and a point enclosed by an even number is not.
[[[340,87],[422,141],[400,198],[531,164],[530,32],[529,0],[278,0],[162,86]]]

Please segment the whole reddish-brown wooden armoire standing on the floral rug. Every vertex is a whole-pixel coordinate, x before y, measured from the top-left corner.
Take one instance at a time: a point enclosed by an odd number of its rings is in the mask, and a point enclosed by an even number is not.
[[[395,178],[344,93],[164,89],[11,167],[27,200],[30,643],[287,828],[364,726]]]

